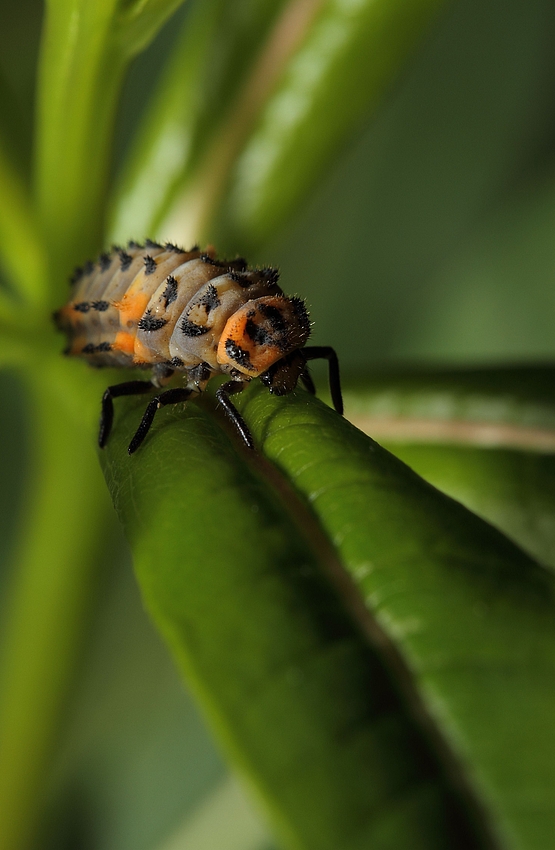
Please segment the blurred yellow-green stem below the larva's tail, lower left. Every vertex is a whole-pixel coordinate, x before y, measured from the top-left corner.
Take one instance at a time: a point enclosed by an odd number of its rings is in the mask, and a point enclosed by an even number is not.
[[[1,850],[29,847],[40,817],[106,516],[90,429],[78,410],[88,414],[89,407],[75,387],[73,365],[60,358],[40,376],[36,369],[24,375],[31,421],[40,428],[32,433],[32,472],[3,634]]]

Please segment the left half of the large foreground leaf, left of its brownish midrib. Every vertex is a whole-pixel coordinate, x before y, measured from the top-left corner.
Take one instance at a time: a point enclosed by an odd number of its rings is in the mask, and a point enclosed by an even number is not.
[[[284,846],[477,847],[302,504],[195,405],[129,458],[143,408],[123,400],[102,462],[144,600]]]

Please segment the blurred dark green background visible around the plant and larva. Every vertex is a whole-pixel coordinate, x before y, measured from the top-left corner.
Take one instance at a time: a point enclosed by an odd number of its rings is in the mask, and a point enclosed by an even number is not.
[[[0,4],[0,97],[19,104],[10,132],[23,164],[41,17],[34,0]],[[176,30],[128,75],[114,172]],[[308,299],[314,341],[334,345],[347,370],[553,359],[554,45],[550,0],[453,0],[377,117],[252,257]],[[0,391],[6,564],[25,401],[9,374]],[[270,850],[142,611],[115,523],[105,567],[52,775],[51,846]]]

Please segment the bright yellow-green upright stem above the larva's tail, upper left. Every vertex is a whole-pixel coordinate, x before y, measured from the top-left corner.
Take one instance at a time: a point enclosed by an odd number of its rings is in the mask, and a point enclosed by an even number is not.
[[[114,114],[124,71],[178,0],[50,0],[38,96],[37,196],[51,287],[102,245]]]

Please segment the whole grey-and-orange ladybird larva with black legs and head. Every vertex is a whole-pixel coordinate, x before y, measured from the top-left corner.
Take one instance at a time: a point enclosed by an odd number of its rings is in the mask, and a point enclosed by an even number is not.
[[[150,369],[149,381],[108,387],[102,398],[98,442],[106,445],[113,400],[158,390],[129,444],[133,454],[156,411],[203,392],[215,375],[229,381],[216,392],[244,443],[253,439],[230,399],[260,378],[274,395],[292,392],[300,380],[314,394],[310,360],[329,364],[332,400],[343,412],[339,365],[333,348],[305,347],[310,321],[304,301],[283,294],[273,268],[249,268],[242,258],[219,260],[212,248],[185,251],[171,243],[129,242],[101,254],[72,277],[69,302],[54,314],[67,334],[66,353],[91,366]],[[176,375],[182,385],[162,392]]]

